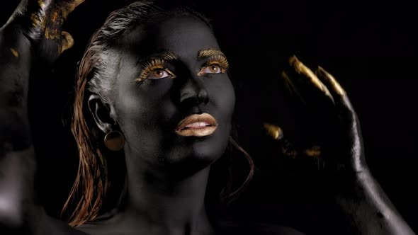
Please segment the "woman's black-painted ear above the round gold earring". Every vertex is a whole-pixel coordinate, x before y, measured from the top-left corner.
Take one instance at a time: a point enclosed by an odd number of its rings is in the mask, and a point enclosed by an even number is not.
[[[111,116],[111,108],[107,103],[103,103],[101,97],[97,94],[93,93],[89,96],[89,110],[98,129],[103,133],[108,133],[112,130],[112,126],[116,122]]]

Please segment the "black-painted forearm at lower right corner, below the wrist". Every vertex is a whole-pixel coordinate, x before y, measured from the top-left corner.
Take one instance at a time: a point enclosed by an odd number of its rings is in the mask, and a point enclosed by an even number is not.
[[[351,186],[337,202],[356,234],[414,234],[368,169],[357,173]]]

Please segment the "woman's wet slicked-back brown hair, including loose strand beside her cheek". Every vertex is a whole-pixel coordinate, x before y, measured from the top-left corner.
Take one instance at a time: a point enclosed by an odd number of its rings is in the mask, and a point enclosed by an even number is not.
[[[171,8],[170,11],[162,11],[162,8],[157,7],[153,1],[137,1],[125,8],[113,11],[103,26],[92,35],[86,47],[77,73],[71,124],[79,149],[79,168],[62,210],[66,212],[70,205],[74,206],[74,211],[69,214],[71,226],[94,220],[101,212],[109,188],[108,166],[104,157],[106,154],[106,148],[103,146],[104,134],[94,124],[86,98],[89,97],[89,93],[96,93],[104,103],[112,103],[109,98],[115,82],[114,75],[118,72],[116,68],[119,60],[115,58],[113,46],[121,35],[128,33],[137,25],[146,23],[154,16],[171,13],[196,17],[212,28],[207,18],[190,8],[176,7]],[[231,187],[225,187],[222,190],[220,197],[223,200],[236,197],[254,173],[254,164],[247,152],[232,138],[230,138],[230,143],[247,157],[250,171],[247,179],[237,190],[232,193]]]

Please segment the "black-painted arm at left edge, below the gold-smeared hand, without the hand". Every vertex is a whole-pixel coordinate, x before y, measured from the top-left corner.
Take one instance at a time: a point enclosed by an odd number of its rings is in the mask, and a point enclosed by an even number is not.
[[[18,25],[1,28],[0,227],[22,227],[25,207],[33,199],[35,153],[27,114],[30,50]]]

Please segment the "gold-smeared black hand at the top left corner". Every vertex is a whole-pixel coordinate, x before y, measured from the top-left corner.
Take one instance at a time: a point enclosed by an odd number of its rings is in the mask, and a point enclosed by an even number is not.
[[[84,0],[23,0],[9,20],[30,40],[35,58],[51,64],[74,45],[62,30],[65,19]]]

